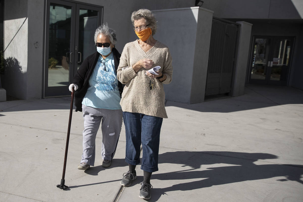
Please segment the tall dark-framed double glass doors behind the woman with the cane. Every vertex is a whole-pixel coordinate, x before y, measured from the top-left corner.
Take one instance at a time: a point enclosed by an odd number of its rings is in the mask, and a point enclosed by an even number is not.
[[[103,8],[61,0],[47,1],[44,98],[68,96],[69,84],[88,55]]]

